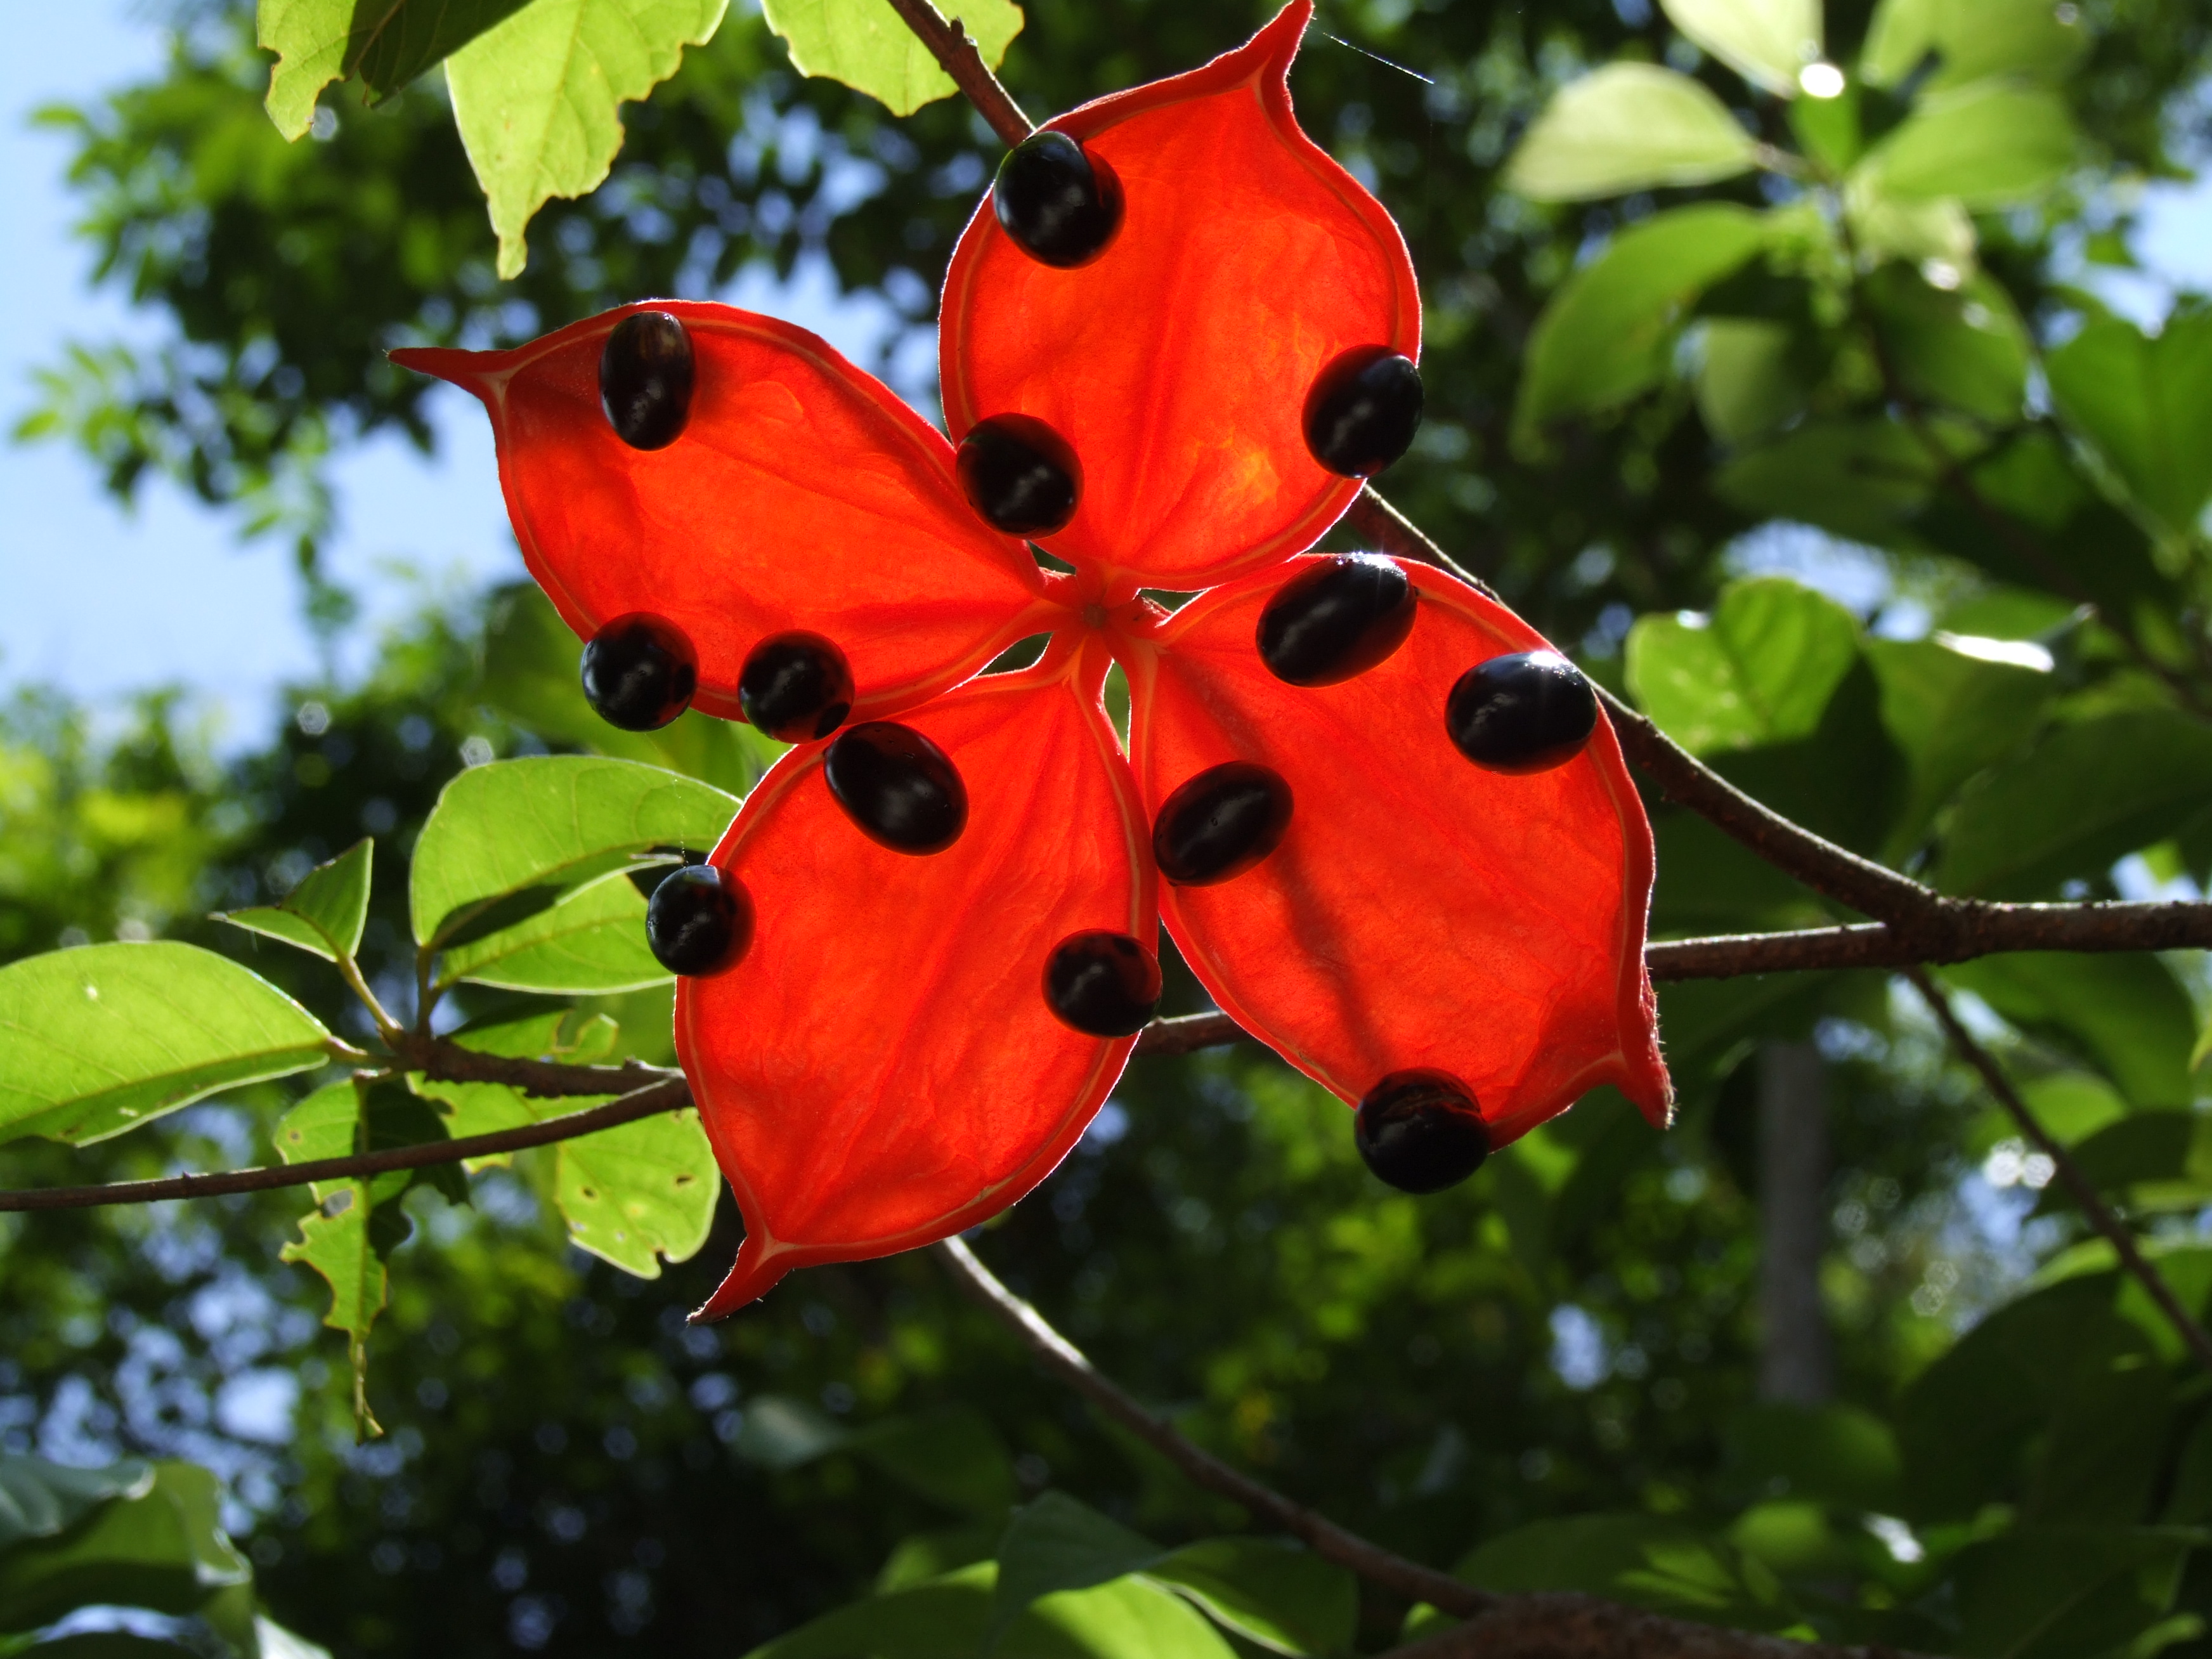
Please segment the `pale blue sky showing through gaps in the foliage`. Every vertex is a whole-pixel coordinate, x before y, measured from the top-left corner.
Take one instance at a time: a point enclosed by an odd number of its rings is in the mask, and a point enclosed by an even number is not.
[[[53,363],[66,341],[159,338],[153,319],[86,288],[88,259],[69,234],[66,139],[29,126],[40,104],[82,102],[157,73],[161,38],[150,18],[142,0],[88,0],[22,7],[11,20],[0,53],[0,179],[15,226],[0,259],[0,429],[31,400],[33,365]],[[2143,319],[2163,314],[2177,283],[2212,288],[2212,184],[2157,186],[2148,208],[2139,254],[2157,274],[2104,283]],[[821,272],[790,290],[745,281],[732,299],[792,316],[854,354],[885,325],[865,301],[836,303]],[[460,394],[440,398],[436,460],[394,438],[336,471],[332,568],[367,599],[372,628],[405,615],[425,591],[520,571],[482,416]],[[316,672],[285,551],[241,546],[226,515],[161,482],[124,513],[73,451],[4,440],[0,500],[0,686],[38,679],[111,701],[184,684],[217,714],[226,743],[248,743],[265,730],[279,688]],[[369,639],[361,630],[341,668],[358,668]]]

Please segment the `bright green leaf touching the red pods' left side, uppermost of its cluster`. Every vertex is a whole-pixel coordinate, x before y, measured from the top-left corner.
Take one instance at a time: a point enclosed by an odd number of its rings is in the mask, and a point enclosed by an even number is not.
[[[653,847],[708,852],[739,801],[635,761],[546,754],[478,765],[438,796],[414,849],[416,940],[442,947],[531,887],[580,887]]]

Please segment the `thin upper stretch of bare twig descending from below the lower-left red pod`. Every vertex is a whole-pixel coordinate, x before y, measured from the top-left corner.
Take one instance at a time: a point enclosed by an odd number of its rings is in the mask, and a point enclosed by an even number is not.
[[[1316,1555],[1340,1566],[1349,1566],[1363,1579],[1396,1590],[1409,1601],[1427,1601],[1455,1617],[1469,1619],[1498,1606],[1498,1597],[1478,1590],[1433,1566],[1409,1562],[1380,1544],[1371,1544],[1358,1533],[1347,1533],[1325,1515],[1316,1515],[1305,1504],[1294,1504],[1272,1486],[1261,1486],[1250,1475],[1230,1469],[1214,1453],[1179,1436],[1166,1418],[1155,1416],[1137,1402],[1119,1383],[1102,1374],[1075,1343],[1055,1332],[1044,1314],[1015,1296],[1000,1279],[975,1259],[975,1252],[960,1239],[942,1239],[938,1256],[951,1267],[960,1287],[980,1303],[1000,1325],[1022,1338],[1046,1371],[1082,1394],[1091,1405],[1135,1433],[1148,1447],[1168,1458],[1208,1491],[1221,1493],[1243,1504],[1252,1515],[1272,1526],[1281,1526],[1298,1537]]]

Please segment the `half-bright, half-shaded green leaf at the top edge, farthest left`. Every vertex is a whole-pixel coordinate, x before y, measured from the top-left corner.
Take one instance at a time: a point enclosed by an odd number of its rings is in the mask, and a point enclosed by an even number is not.
[[[270,69],[268,113],[288,139],[314,122],[334,80],[361,75],[380,102],[460,51],[526,0],[261,0],[254,18]]]

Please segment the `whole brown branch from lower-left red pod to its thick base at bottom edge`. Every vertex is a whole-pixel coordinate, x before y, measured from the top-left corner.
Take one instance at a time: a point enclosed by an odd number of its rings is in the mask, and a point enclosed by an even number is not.
[[[1493,1595],[1433,1566],[1409,1562],[1186,1440],[1166,1418],[1099,1371],[1075,1343],[1053,1329],[1044,1314],[1015,1296],[964,1241],[945,1239],[936,1252],[960,1290],[1013,1332],[1046,1371],[1161,1453],[1194,1484],[1228,1498],[1267,1526],[1281,1526],[1314,1555],[1352,1568],[1369,1584],[1469,1619],[1398,1648],[1389,1659],[1880,1659],[1871,1648],[1834,1648],[1721,1630],[1588,1595]]]

